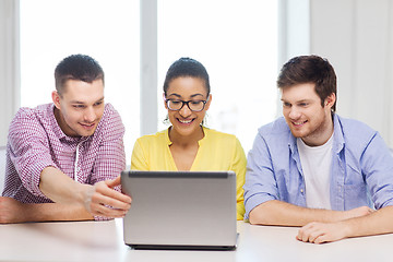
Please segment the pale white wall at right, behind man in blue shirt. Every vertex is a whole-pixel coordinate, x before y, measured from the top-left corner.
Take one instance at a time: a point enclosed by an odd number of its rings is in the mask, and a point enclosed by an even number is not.
[[[393,146],[393,2],[310,0],[310,53],[338,79],[337,112],[378,130]]]

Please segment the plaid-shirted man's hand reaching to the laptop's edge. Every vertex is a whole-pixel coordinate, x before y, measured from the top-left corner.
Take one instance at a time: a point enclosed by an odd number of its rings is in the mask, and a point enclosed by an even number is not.
[[[84,206],[96,216],[109,218],[123,217],[131,207],[131,198],[116,191],[114,188],[120,184],[120,176],[114,180],[106,180],[87,186],[84,195]]]

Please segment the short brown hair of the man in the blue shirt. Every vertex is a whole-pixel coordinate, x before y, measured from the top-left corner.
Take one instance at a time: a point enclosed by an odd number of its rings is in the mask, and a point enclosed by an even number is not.
[[[284,90],[306,83],[315,84],[315,93],[321,98],[322,107],[331,94],[334,93],[337,97],[336,74],[327,59],[318,56],[300,56],[290,59],[283,66],[277,79],[278,88]],[[332,106],[333,111],[336,109],[336,102]]]

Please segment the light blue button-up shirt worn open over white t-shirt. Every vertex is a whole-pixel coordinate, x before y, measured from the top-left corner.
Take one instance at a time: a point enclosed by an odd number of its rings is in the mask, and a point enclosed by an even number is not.
[[[334,115],[330,201],[332,210],[393,205],[393,157],[381,135],[359,121]],[[246,216],[270,200],[306,205],[296,138],[284,118],[259,129],[247,159]]]

